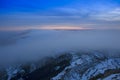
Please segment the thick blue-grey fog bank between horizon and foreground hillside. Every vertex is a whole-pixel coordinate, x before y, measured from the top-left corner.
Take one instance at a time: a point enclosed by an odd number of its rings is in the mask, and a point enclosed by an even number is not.
[[[79,50],[119,51],[120,31],[31,30],[0,32],[0,63],[36,60],[64,51]]]

